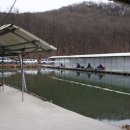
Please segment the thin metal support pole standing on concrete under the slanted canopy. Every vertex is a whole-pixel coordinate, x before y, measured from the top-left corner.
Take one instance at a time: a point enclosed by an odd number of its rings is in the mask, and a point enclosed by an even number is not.
[[[20,60],[20,67],[21,67],[21,81],[22,81],[22,102],[24,101],[24,91],[27,91],[26,89],[26,82],[25,82],[25,76],[23,71],[23,53],[19,54],[19,60]]]

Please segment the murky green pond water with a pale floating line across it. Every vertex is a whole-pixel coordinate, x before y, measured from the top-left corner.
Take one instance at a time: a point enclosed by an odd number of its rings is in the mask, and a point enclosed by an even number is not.
[[[24,73],[28,91],[58,106],[112,125],[130,124],[130,76],[47,68]],[[4,80],[21,89],[19,70],[5,71]]]

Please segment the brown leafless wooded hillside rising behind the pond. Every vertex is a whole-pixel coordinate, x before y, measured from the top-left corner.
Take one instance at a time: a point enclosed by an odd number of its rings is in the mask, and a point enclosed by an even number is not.
[[[16,10],[5,22],[6,16],[0,12],[0,25],[16,24],[57,48],[33,57],[130,51],[130,7],[125,5],[83,2],[48,12]]]

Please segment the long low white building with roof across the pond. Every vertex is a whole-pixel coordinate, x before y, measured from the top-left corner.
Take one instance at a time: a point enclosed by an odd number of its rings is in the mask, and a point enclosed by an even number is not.
[[[55,67],[60,67],[62,64],[66,68],[76,68],[77,64],[80,64],[83,68],[87,68],[90,64],[95,69],[102,64],[106,71],[130,72],[130,53],[52,56],[50,58],[55,59]]]

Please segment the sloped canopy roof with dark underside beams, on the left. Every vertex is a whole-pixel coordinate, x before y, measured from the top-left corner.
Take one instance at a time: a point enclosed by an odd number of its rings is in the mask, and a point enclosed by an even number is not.
[[[0,56],[51,50],[56,48],[16,25],[0,27]]]

